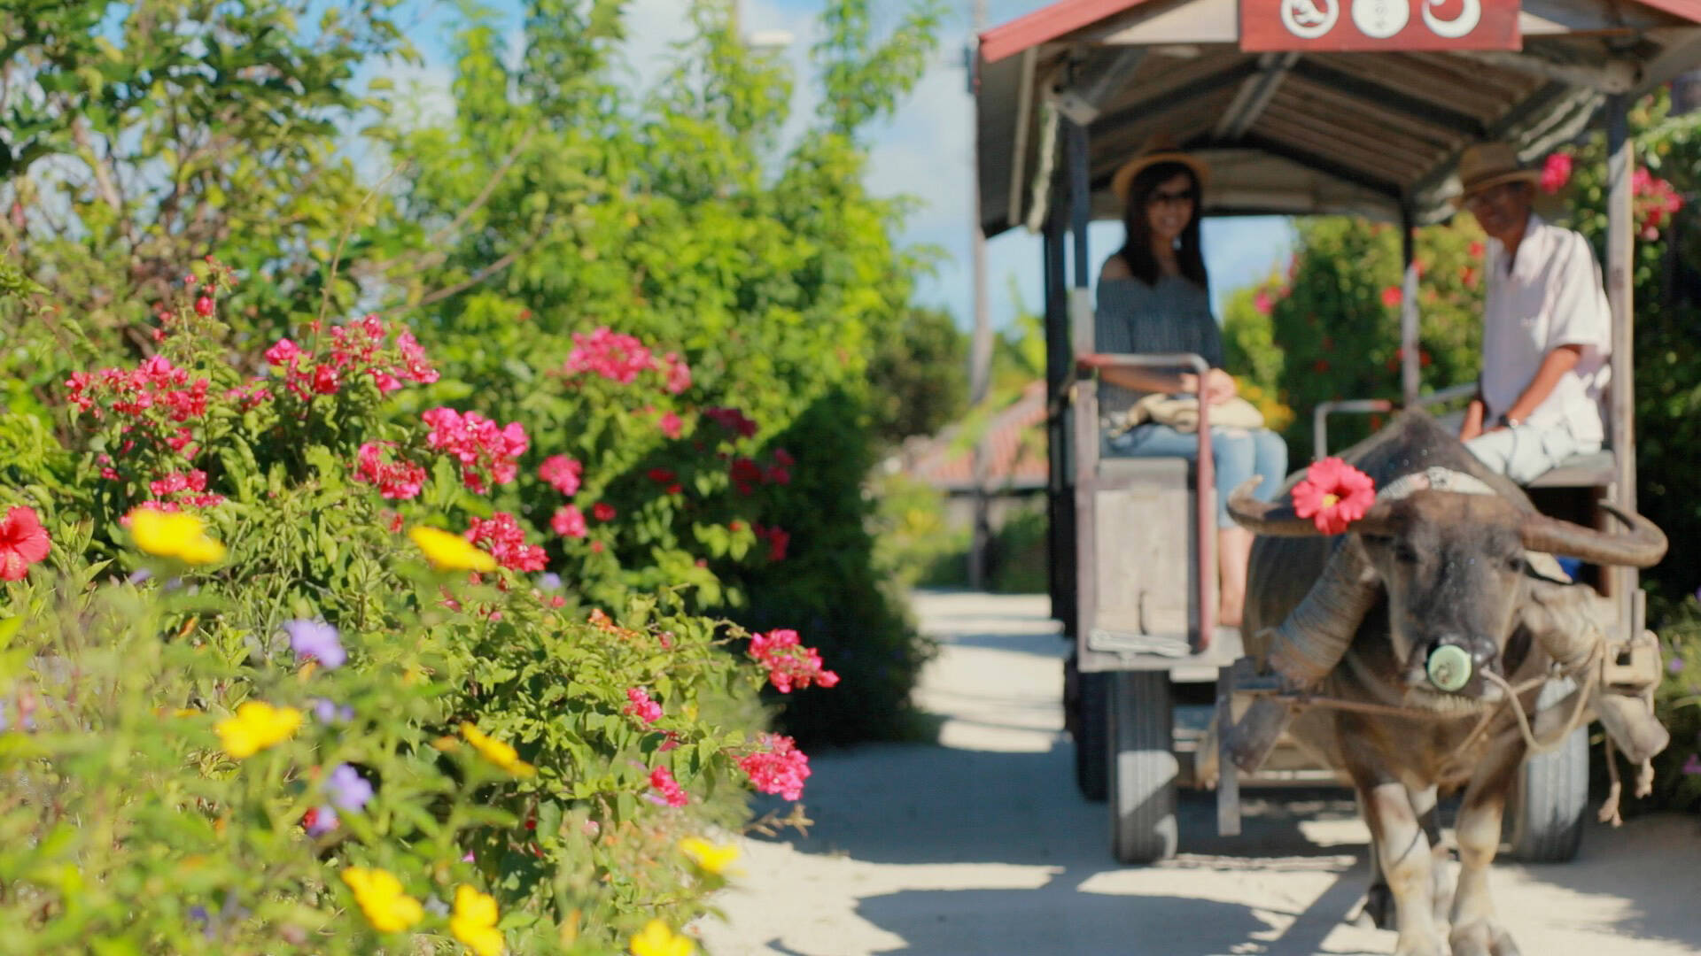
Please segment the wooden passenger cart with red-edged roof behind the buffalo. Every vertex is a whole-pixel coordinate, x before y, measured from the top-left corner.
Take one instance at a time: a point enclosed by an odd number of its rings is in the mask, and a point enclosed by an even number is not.
[[[1078,373],[1078,359],[1094,350],[1089,286],[1102,259],[1089,253],[1087,226],[1119,219],[1111,175],[1150,136],[1167,134],[1211,163],[1204,214],[1352,214],[1403,230],[1402,398],[1317,410],[1323,454],[1330,412],[1424,407],[1458,393],[1420,391],[1412,230],[1453,214],[1461,151],[1504,139],[1534,158],[1604,124],[1609,447],[1538,478],[1529,493],[1545,512],[1575,522],[1604,521],[1602,500],[1635,510],[1635,156],[1626,109],[1701,65],[1701,2],[1354,0],[1351,17],[1342,15],[1347,7],[1060,0],[980,34],[980,223],[988,236],[1026,225],[1044,240],[1051,600],[1075,646],[1067,711],[1078,784],[1089,798],[1109,798],[1111,842],[1124,862],[1175,851],[1175,788],[1199,782],[1213,764],[1198,752],[1211,713],[1230,718],[1267,692],[1242,662],[1240,633],[1213,626],[1206,429],[1196,463],[1101,459],[1095,381]],[[1403,26],[1390,32],[1390,24]],[[1204,366],[1198,356],[1114,361]],[[1636,573],[1585,575],[1616,600],[1614,648],[1628,653],[1643,634]],[[1614,663],[1630,680],[1648,679],[1645,657]],[[1228,735],[1220,737],[1226,755]],[[1587,760],[1585,730],[1577,728],[1524,765],[1505,830],[1522,859],[1575,854]],[[1232,767],[1226,759],[1218,765]],[[1332,779],[1277,740],[1257,772],[1221,772],[1218,830],[1238,834],[1240,786]]]

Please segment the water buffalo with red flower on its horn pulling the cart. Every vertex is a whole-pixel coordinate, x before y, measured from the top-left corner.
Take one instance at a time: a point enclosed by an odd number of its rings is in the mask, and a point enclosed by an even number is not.
[[[1294,515],[1286,495],[1271,504],[1232,498],[1235,519],[1259,532],[1247,653],[1317,696],[1388,708],[1306,708],[1289,733],[1352,779],[1378,871],[1368,908],[1386,920],[1391,895],[1397,953],[1516,954],[1495,919],[1487,871],[1527,747],[1502,708],[1507,692],[1485,675],[1536,687],[1555,662],[1577,665],[1599,645],[1590,628],[1613,628],[1606,599],[1539,573],[1533,558],[1648,566],[1664,556],[1665,536],[1619,512],[1621,532],[1545,517],[1417,412],[1342,458],[1378,490],[1345,534],[1323,536]],[[1437,657],[1437,648],[1453,650]],[[1436,660],[1453,674],[1437,679]],[[1538,689],[1522,694],[1526,711]],[[1499,713],[1478,728],[1490,711]],[[1458,788],[1459,874],[1449,891],[1436,801]]]

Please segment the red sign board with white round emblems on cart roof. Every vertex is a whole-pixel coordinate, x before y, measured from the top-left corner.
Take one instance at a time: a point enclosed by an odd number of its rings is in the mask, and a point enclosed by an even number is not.
[[[1240,49],[1519,49],[1519,0],[1240,0]]]

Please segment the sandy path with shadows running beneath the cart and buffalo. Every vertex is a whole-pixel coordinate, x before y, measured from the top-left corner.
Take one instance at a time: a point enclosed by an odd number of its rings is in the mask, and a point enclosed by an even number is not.
[[[1065,645],[1043,597],[920,594],[942,643],[919,691],[939,745],[811,757],[808,837],[745,839],[747,874],[696,930],[716,956],[873,953],[1216,956],[1391,953],[1345,920],[1368,834],[1345,791],[1254,791],[1245,835],[1215,837],[1184,793],[1182,852],[1118,866],[1102,803],[1075,791]],[[856,692],[840,687],[833,692]],[[1701,823],[1596,827],[1579,861],[1497,864],[1500,915],[1526,956],[1701,953]]]

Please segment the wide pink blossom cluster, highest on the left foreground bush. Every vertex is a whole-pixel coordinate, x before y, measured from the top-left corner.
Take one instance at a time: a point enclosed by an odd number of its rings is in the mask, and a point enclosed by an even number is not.
[[[284,373],[284,388],[296,398],[333,395],[357,376],[371,376],[378,391],[401,388],[401,379],[430,384],[437,369],[425,359],[413,333],[401,330],[390,344],[390,327],[376,315],[357,318],[330,330],[330,354],[315,356],[289,339],[279,339],[265,350],[265,361]]]

